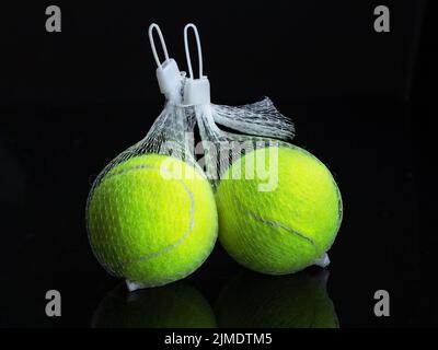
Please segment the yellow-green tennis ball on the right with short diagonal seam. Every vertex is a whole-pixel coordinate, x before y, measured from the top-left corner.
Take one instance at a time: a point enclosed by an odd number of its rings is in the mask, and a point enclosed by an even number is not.
[[[342,220],[341,194],[330,171],[309,152],[293,145],[258,149],[222,178],[216,195],[219,240],[243,266],[290,273],[331,247]]]

